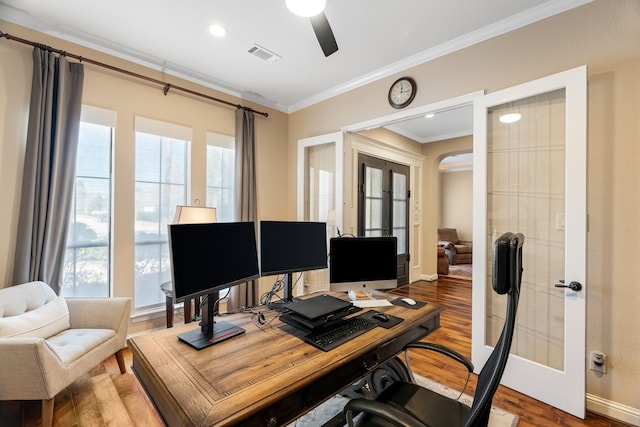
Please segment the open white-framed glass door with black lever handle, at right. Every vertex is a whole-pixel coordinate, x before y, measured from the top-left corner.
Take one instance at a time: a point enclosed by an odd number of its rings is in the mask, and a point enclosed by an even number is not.
[[[503,232],[521,232],[522,290],[502,383],[581,418],[586,87],[579,67],[480,97],[473,150],[473,363],[484,365],[504,322],[504,298],[491,290],[490,249]],[[513,113],[519,120],[504,123]]]

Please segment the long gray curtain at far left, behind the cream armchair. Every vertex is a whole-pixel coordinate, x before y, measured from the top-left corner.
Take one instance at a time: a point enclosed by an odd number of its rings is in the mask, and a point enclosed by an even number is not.
[[[60,293],[83,81],[82,64],[34,49],[13,284],[42,280]]]

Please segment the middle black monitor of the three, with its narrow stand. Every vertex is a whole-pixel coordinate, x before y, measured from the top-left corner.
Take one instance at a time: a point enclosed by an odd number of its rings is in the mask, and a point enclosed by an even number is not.
[[[327,268],[327,224],[260,221],[260,274],[285,274],[283,300],[293,301],[293,273]]]

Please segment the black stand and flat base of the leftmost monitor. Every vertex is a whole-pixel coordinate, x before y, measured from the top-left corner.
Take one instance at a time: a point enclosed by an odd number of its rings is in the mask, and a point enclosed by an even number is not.
[[[218,292],[207,295],[206,304],[202,304],[200,329],[185,332],[178,335],[178,339],[189,344],[196,350],[202,350],[214,344],[224,341],[236,335],[245,333],[245,330],[229,322],[215,322],[215,304],[218,300]]]

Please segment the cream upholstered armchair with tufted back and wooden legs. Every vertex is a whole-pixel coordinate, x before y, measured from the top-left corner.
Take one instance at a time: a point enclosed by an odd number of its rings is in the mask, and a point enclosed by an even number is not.
[[[51,426],[56,394],[115,354],[126,373],[130,298],[66,300],[43,282],[0,289],[0,400],[42,400]]]

